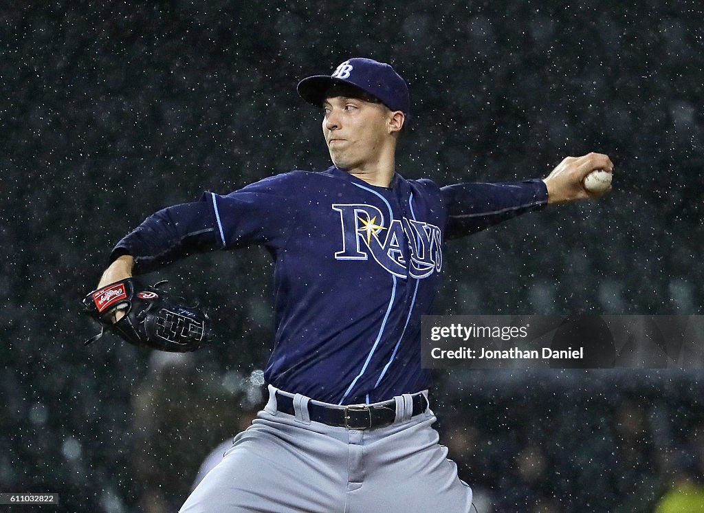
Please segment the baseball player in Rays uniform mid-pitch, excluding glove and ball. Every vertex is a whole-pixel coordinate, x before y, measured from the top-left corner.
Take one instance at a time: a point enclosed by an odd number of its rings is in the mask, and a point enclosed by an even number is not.
[[[612,163],[566,158],[546,179],[510,184],[408,180],[394,160],[408,87],[390,65],[351,58],[298,94],[322,109],[331,167],[160,210],[115,246],[99,284],[251,244],[275,262],[268,404],[181,511],[469,512],[420,367],[442,244],[589,198],[582,180]]]

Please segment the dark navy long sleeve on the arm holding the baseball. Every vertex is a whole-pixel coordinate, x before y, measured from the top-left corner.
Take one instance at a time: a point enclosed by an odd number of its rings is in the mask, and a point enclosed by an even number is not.
[[[455,184],[442,187],[440,191],[448,208],[446,239],[480,232],[548,203],[548,189],[541,179]]]

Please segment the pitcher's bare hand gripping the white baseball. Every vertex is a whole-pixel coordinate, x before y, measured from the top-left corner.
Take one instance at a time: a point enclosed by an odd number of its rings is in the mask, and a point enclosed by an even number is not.
[[[613,163],[603,153],[589,153],[582,157],[567,157],[543,178],[548,187],[548,203],[564,203],[580,199],[596,198],[602,194],[590,194],[584,190],[584,178],[598,169],[612,172]]]

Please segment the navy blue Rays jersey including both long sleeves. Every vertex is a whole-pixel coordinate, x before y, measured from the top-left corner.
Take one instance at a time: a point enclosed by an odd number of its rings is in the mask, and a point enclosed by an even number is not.
[[[189,253],[261,244],[275,262],[275,341],[265,379],[326,403],[374,403],[429,386],[420,317],[446,239],[547,202],[539,180],[456,184],[395,175],[367,184],[337,167],[276,175],[160,210],[113,251],[134,273]]]

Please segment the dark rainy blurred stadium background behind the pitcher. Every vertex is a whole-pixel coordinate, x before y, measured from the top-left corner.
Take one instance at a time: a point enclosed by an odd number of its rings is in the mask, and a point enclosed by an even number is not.
[[[544,177],[589,151],[615,162],[601,201],[448,243],[439,313],[700,313],[697,1],[8,1],[0,13],[0,491],[61,496],[37,509],[175,510],[246,423],[271,339],[263,251],[149,277],[210,308],[220,341],[190,357],[112,336],[84,348],[96,327],[79,300],[155,210],[327,167],[320,113],[295,86],[353,56],[410,84],[405,177]],[[434,410],[480,513],[703,511],[702,378],[451,371]]]

